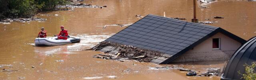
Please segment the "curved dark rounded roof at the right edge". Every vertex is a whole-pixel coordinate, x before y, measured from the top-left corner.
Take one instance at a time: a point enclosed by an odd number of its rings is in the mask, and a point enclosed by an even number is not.
[[[256,62],[256,37],[251,38],[243,46],[238,48],[230,58],[221,80],[242,80],[241,74],[244,74],[244,64],[251,65]],[[255,68],[254,68],[255,70]],[[241,74],[238,73],[240,71]]]

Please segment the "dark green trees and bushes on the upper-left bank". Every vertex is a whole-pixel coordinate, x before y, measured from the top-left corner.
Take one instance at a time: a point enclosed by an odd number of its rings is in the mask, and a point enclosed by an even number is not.
[[[37,12],[55,10],[69,0],[0,0],[0,19],[29,18]]]

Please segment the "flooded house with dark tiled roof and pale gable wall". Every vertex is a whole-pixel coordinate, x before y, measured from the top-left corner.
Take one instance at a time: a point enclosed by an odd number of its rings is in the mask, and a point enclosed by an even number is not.
[[[222,28],[148,15],[104,42],[159,52],[161,56],[150,62],[168,64],[228,60],[246,40]],[[105,46],[98,51],[114,54],[118,48]]]

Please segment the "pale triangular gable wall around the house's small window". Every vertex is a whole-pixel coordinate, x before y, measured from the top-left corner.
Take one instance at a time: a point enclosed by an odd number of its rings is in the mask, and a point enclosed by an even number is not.
[[[212,38],[220,38],[220,49],[212,48]],[[224,61],[229,60],[242,44],[222,33],[217,33],[200,43],[192,50],[182,54],[172,62]]]

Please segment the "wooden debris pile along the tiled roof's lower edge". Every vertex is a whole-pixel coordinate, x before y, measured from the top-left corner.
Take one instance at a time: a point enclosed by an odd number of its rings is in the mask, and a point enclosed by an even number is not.
[[[102,51],[106,46],[114,46],[118,52],[113,53],[113,50],[105,50]],[[132,59],[137,60],[139,62],[150,62],[153,59],[156,59],[158,57],[162,57],[162,53],[152,51],[152,50],[146,50],[142,48],[137,48],[130,45],[122,45],[117,43],[111,43],[111,42],[101,42],[98,44],[98,46],[95,46],[94,48],[86,49],[86,50],[98,50],[104,52],[104,54],[97,54],[93,55],[95,58],[103,58],[107,60],[118,60],[123,61],[124,59]]]

